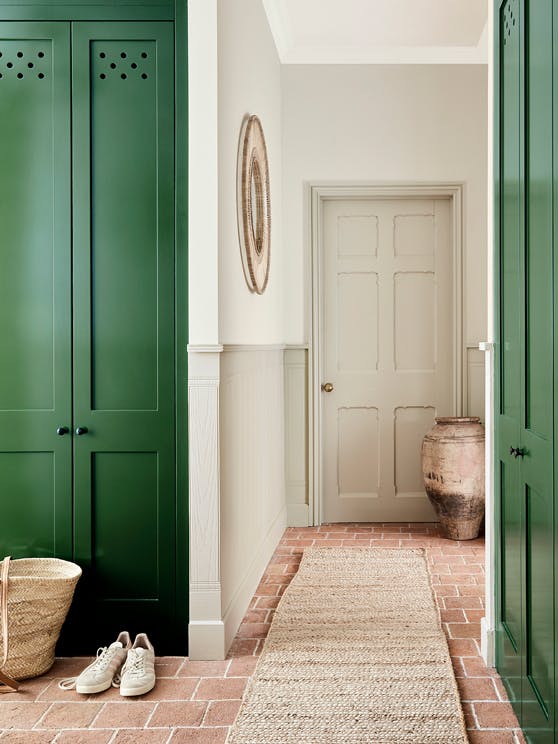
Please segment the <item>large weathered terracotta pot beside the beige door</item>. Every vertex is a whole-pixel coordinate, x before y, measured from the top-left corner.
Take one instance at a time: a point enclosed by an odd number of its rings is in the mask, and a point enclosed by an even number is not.
[[[484,516],[484,427],[478,418],[436,418],[422,442],[424,487],[446,537],[472,540]]]

